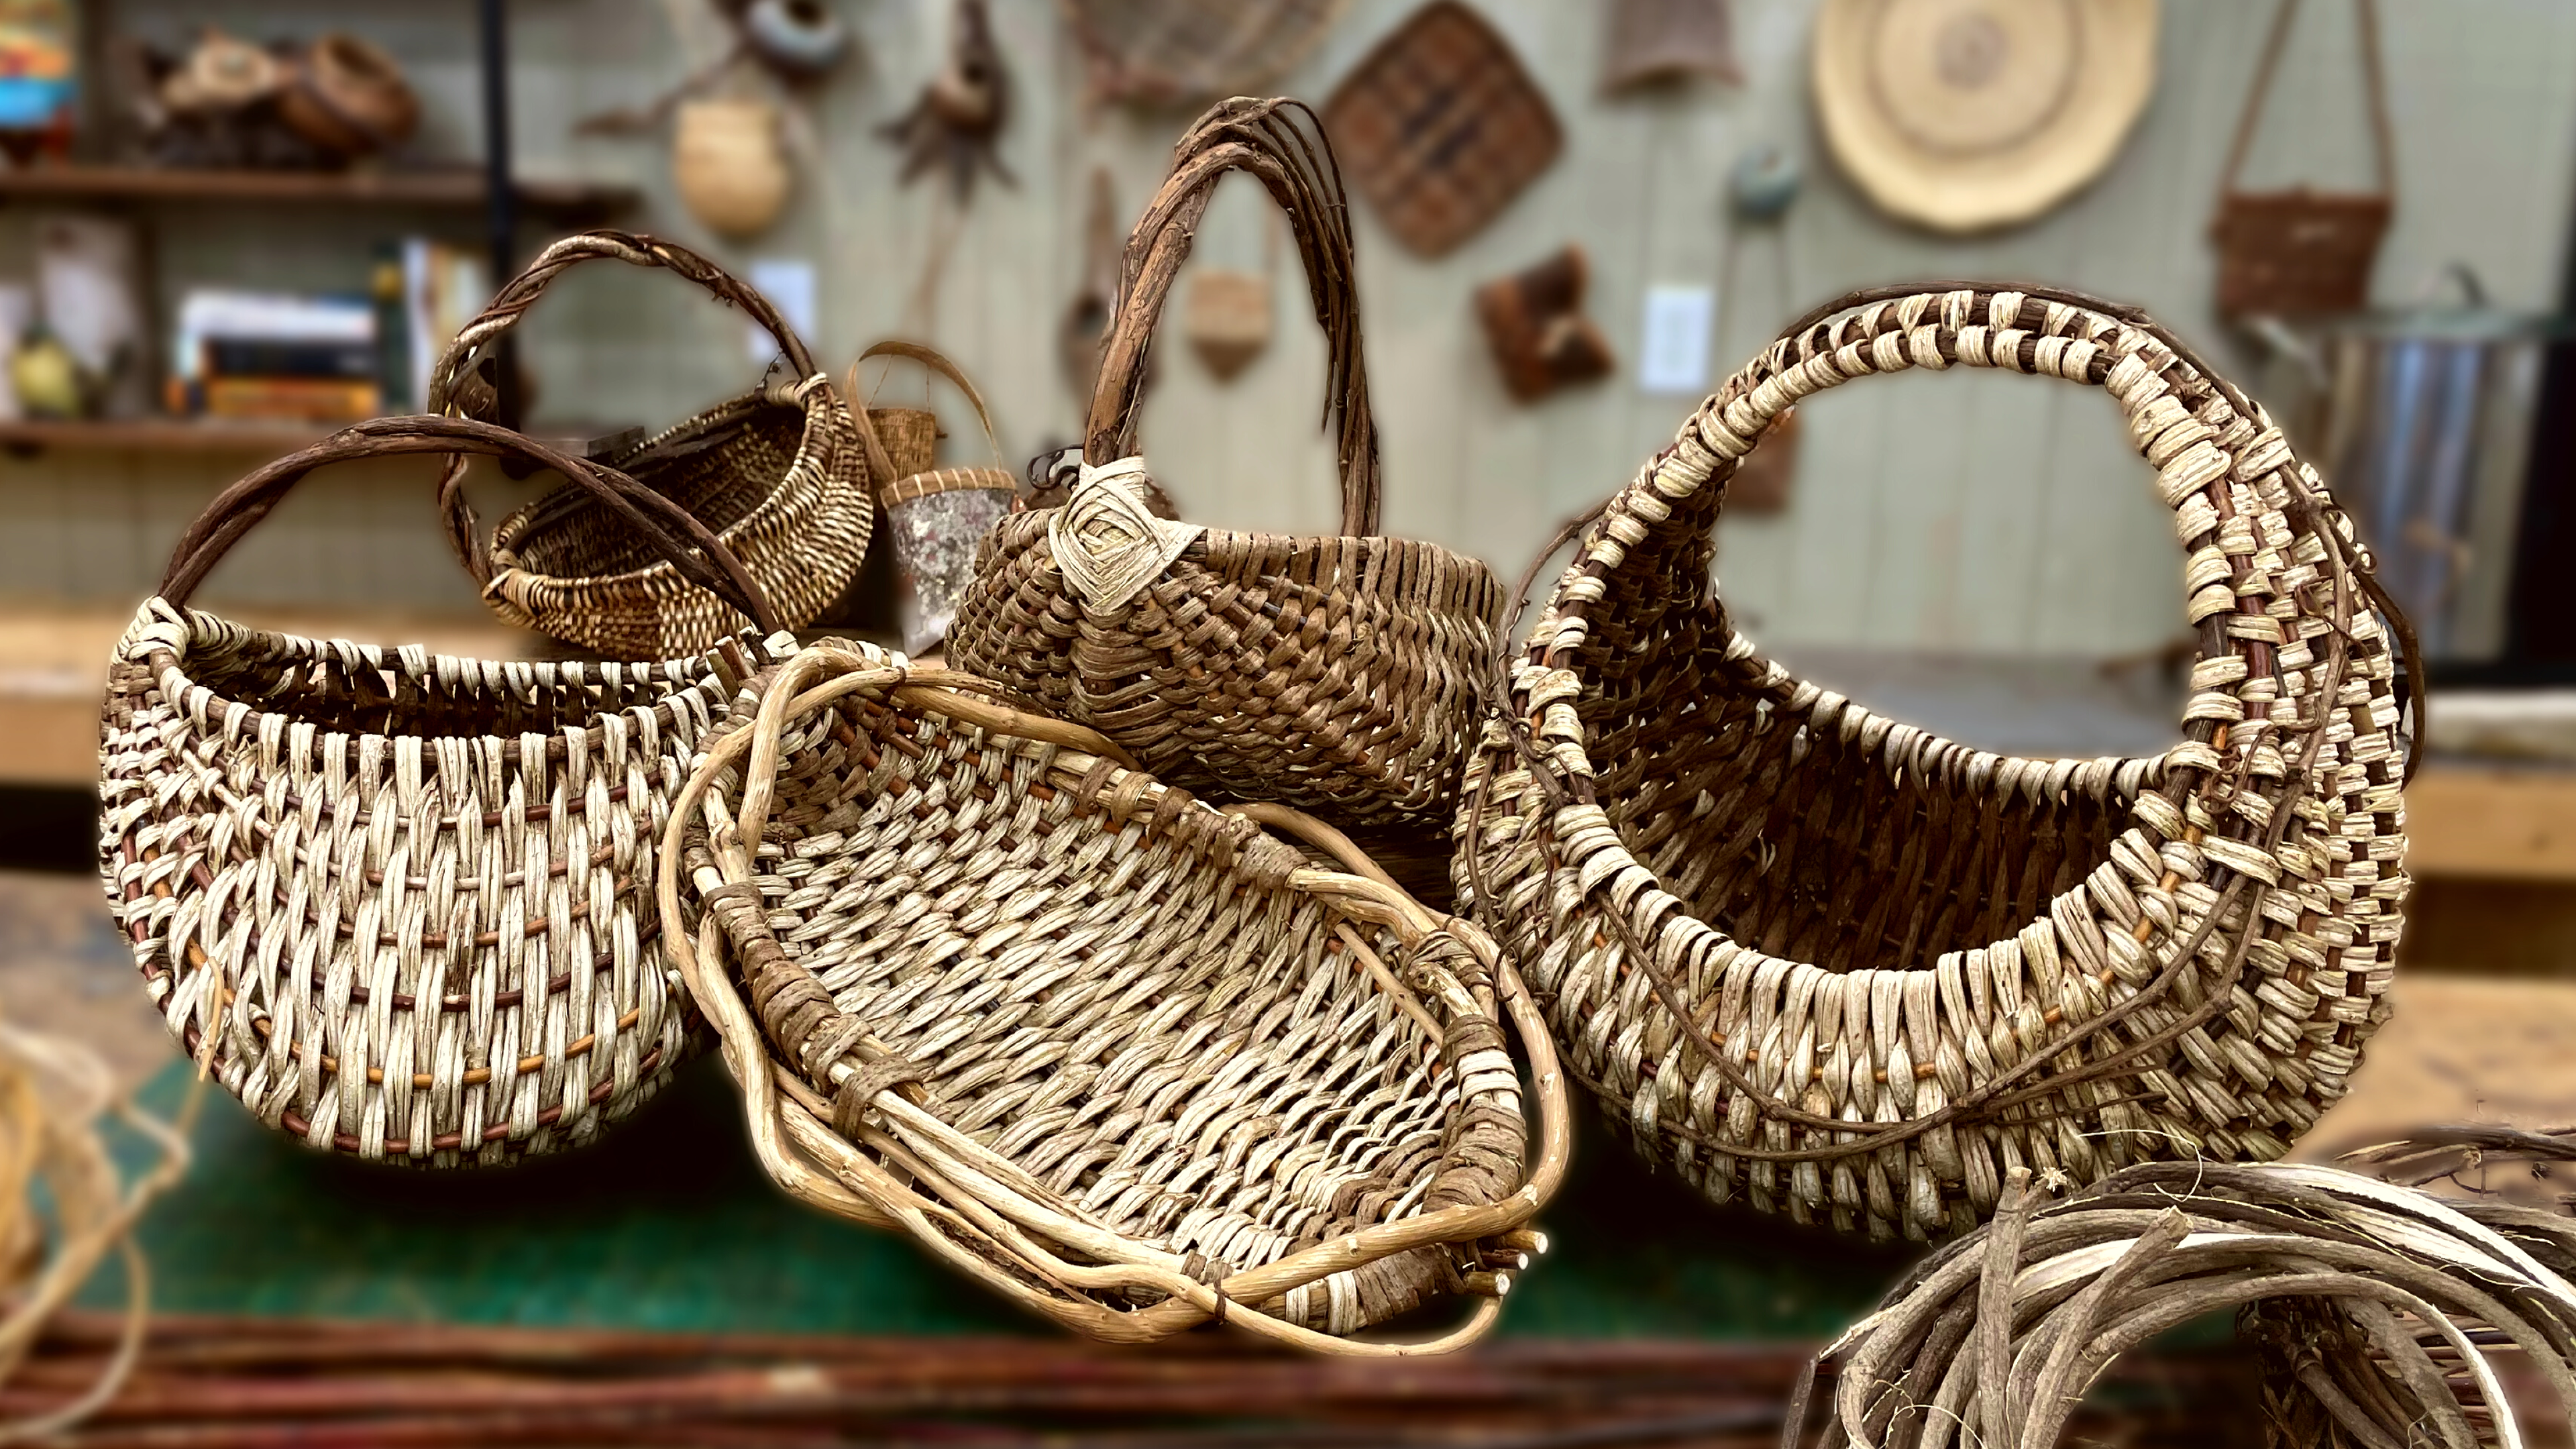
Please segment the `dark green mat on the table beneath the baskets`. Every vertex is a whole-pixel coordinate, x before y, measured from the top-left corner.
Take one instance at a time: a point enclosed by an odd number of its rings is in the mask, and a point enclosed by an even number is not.
[[[144,1091],[173,1111],[188,1065]],[[1816,1338],[1909,1261],[1651,1178],[1584,1122],[1553,1250],[1502,1333]],[[500,1173],[368,1168],[263,1129],[209,1088],[198,1163],[144,1220],[167,1312],[742,1333],[1054,1333],[912,1243],[788,1201],[724,1067],[698,1060],[608,1142]],[[121,1302],[116,1269],[93,1305]]]

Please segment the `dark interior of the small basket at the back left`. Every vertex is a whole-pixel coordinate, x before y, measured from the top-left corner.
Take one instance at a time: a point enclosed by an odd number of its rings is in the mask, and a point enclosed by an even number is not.
[[[804,449],[804,407],[752,392],[600,462],[688,508],[721,536],[778,490]],[[523,518],[505,541],[528,572],[611,578],[662,562],[605,503],[569,485],[536,500]]]

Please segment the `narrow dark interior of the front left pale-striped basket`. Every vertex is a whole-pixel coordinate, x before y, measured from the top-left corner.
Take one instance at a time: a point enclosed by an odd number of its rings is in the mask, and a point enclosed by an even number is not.
[[[412,670],[397,650],[214,624],[191,642],[183,668],[216,699],[345,735],[554,735],[690,688],[706,706],[724,706],[711,676],[677,678],[659,665],[464,660],[464,670],[440,678],[435,657],[422,663],[428,668]]]

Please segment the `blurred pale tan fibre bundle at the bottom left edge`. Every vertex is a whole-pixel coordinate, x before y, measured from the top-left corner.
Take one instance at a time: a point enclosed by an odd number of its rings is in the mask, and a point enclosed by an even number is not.
[[[111,1111],[160,1150],[131,1183],[121,1181],[100,1134]],[[95,1052],[0,1024],[0,1382],[18,1374],[39,1333],[111,1248],[126,1263],[116,1351],[70,1400],[28,1418],[0,1418],[0,1444],[49,1439],[116,1397],[142,1351],[152,1292],[134,1222],[185,1171],[183,1129],[126,1101]]]

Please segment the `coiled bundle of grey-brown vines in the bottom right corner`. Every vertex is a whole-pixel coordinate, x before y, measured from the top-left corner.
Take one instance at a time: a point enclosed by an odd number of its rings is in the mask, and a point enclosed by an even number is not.
[[[1991,1225],[1819,1356],[1821,1449],[2045,1449],[2112,1359],[2218,1310],[2257,1348],[2275,1446],[2519,1449],[2494,1359],[2527,1356],[2576,1415],[2571,1274],[2576,1222],[2336,1168],[2146,1163],[2053,1204],[2017,1168]]]

